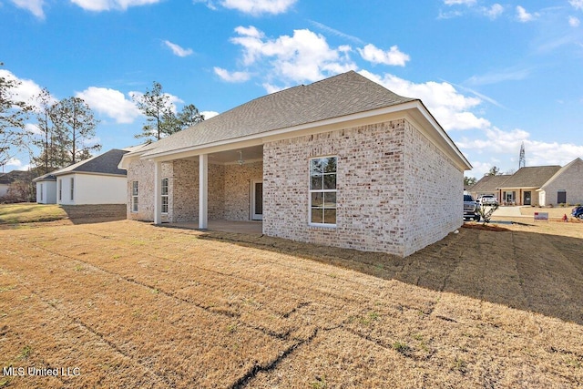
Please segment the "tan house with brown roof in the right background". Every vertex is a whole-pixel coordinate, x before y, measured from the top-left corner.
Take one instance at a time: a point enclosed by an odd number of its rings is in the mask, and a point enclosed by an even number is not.
[[[549,206],[583,203],[583,160],[561,168],[531,166],[511,175],[484,176],[467,191],[475,198],[492,194],[502,205]]]

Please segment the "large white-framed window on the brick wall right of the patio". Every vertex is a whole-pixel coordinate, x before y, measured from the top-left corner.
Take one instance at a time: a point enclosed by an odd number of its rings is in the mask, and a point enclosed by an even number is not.
[[[337,157],[310,159],[310,223],[336,225]]]

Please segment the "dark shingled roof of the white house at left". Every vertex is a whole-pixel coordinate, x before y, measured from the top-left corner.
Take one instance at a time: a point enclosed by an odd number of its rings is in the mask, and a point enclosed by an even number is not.
[[[112,148],[106,153],[100,154],[90,159],[82,160],[63,169],[51,171],[50,173],[41,177],[37,177],[34,180],[55,180],[56,176],[61,176],[68,173],[96,173],[126,176],[128,175],[127,170],[118,169],[119,161],[126,153],[128,153],[128,150]]]

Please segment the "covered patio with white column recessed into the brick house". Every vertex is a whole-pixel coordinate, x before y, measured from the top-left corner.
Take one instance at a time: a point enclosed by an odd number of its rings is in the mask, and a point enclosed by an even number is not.
[[[210,150],[198,155],[200,150],[181,153],[179,159],[152,160],[154,223],[261,233],[261,222],[244,223],[262,220],[262,145]],[[232,222],[243,224],[234,227]]]

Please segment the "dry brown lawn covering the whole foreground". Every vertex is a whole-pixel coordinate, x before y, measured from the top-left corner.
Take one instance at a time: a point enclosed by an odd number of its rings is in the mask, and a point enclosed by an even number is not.
[[[405,259],[128,220],[0,230],[0,368],[79,369],[0,387],[583,387],[583,223],[503,227]]]

